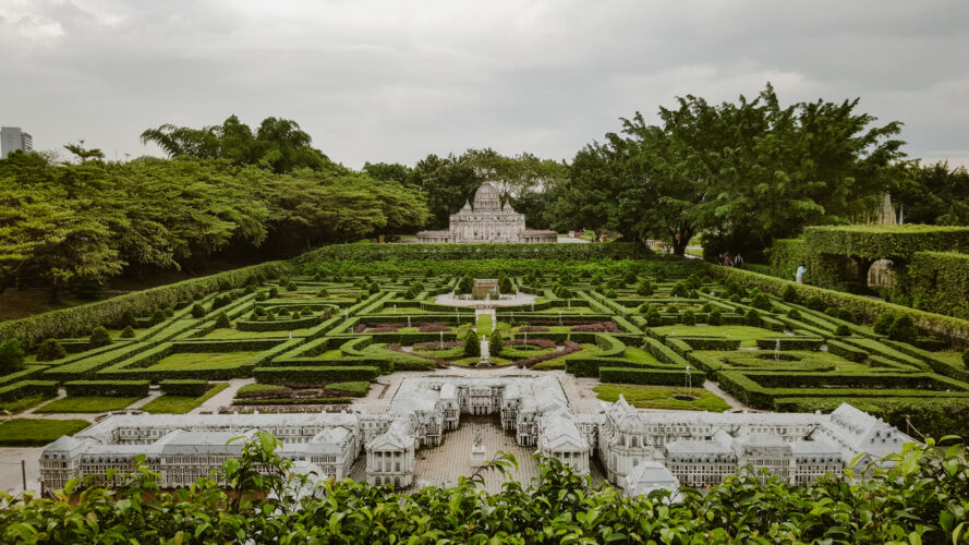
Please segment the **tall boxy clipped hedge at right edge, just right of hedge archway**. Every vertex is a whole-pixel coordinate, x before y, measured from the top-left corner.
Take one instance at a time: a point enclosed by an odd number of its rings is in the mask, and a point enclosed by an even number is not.
[[[969,254],[916,252],[906,284],[922,308],[969,318]]]

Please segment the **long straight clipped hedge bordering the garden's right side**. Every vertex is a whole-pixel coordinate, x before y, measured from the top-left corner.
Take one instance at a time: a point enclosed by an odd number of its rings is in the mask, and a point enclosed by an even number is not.
[[[761,291],[780,295],[788,286],[794,287],[798,295],[803,300],[809,296],[819,296],[827,306],[847,308],[856,317],[872,323],[882,313],[888,312],[895,315],[907,314],[911,316],[916,327],[923,331],[931,331],[940,337],[955,341],[959,346],[969,346],[969,320],[943,316],[924,311],[909,308],[907,306],[886,303],[861,295],[852,295],[839,291],[827,290],[814,286],[799,284],[789,280],[760,275],[735,267],[722,267],[711,265],[710,272],[724,280],[732,280],[748,288],[756,288]]]

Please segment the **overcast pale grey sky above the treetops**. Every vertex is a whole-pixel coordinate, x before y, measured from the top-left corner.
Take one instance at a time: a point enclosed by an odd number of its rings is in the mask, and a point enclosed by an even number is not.
[[[296,120],[334,160],[570,159],[694,94],[861,97],[969,165],[969,1],[0,0],[0,124],[160,155],[162,123]]]

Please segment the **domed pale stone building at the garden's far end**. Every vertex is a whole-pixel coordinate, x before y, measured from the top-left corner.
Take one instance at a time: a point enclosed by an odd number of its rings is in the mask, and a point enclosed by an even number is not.
[[[514,211],[508,203],[501,206],[498,190],[485,182],[474,194],[473,206],[465,203],[451,215],[447,231],[421,231],[417,242],[558,242],[558,233],[525,230],[524,214]]]

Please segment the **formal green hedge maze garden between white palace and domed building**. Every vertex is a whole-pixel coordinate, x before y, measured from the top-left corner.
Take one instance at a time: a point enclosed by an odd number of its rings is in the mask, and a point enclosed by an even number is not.
[[[831,410],[848,401],[925,434],[967,431],[969,371],[952,339],[924,337],[904,314],[872,324],[837,304],[851,295],[762,291],[732,276],[715,279],[698,262],[572,259],[562,267],[485,258],[444,266],[411,257],[327,256],[253,269],[170,306],[114,313],[100,324],[106,346],[62,338],[58,351],[34,338],[24,368],[0,377],[0,401],[53,397],[61,388],[69,398],[144,397],[154,387],[195,397],[213,383],[253,377],[256,384],[235,396],[240,410],[319,410],[365,396],[368,383],[389,373],[473,373],[483,365],[476,338],[489,341],[486,366],[564,370],[616,385],[710,380],[759,410]],[[360,275],[361,264],[374,274]],[[494,277],[502,293],[530,301],[477,315],[438,302],[473,278]]]

